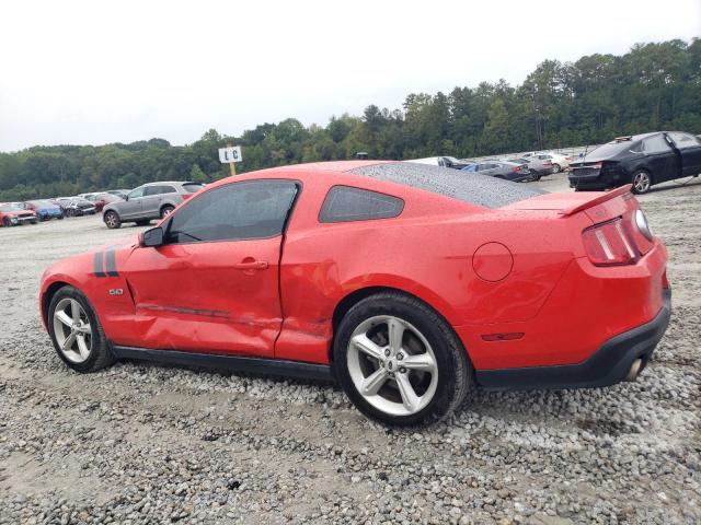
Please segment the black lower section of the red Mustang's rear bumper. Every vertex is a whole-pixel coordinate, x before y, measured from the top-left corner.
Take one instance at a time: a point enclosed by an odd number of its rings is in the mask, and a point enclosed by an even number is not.
[[[671,290],[664,290],[657,315],[631,330],[607,340],[577,364],[520,369],[478,370],[476,382],[486,389],[590,388],[609,386],[625,378],[633,362],[645,366],[669,325]]]

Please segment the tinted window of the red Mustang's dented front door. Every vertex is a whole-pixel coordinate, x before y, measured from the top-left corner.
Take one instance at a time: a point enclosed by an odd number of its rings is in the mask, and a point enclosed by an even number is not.
[[[193,197],[165,226],[165,243],[242,241],[280,235],[298,184],[245,180]]]

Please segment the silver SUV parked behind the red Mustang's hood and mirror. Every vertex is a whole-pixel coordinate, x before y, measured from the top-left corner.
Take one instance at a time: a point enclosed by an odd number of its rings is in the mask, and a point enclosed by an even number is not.
[[[183,200],[200,190],[199,183],[148,183],[129,191],[124,200],[105,206],[102,219],[107,228],[119,228],[123,222],[148,224],[152,219],[170,214]]]

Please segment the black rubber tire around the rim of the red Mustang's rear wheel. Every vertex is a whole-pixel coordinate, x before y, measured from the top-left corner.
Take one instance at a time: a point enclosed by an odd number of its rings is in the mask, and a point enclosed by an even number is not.
[[[348,370],[348,345],[354,330],[376,316],[394,316],[410,323],[429,342],[436,358],[437,387],[421,411],[395,416],[381,411],[358,392]],[[430,306],[400,292],[382,292],[355,304],[341,320],[333,348],[338,382],[353,404],[368,418],[395,427],[414,427],[440,421],[462,402],[473,378],[468,354],[452,328]]]

